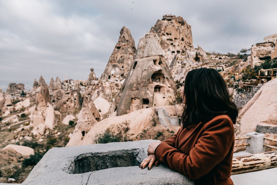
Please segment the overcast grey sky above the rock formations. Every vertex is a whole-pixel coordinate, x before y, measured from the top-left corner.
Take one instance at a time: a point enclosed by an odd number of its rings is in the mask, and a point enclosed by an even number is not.
[[[276,0],[0,0],[0,87],[43,76],[101,76],[126,26],[138,44],[164,14],[192,27],[193,45],[236,53],[277,33]]]

